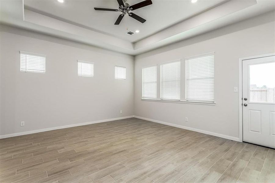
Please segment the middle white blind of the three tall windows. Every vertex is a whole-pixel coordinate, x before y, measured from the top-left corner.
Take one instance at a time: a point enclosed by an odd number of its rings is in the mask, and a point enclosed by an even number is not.
[[[161,65],[161,99],[180,100],[180,61]]]

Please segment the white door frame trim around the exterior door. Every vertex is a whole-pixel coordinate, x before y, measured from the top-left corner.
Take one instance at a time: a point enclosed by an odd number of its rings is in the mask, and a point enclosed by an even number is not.
[[[239,58],[239,141],[243,142],[243,60],[258,59],[262,57],[275,56],[275,53],[268,53],[263,55],[255,55],[244,58]]]

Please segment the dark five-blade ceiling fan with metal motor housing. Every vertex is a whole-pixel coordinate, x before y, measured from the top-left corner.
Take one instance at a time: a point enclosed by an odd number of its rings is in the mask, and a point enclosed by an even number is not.
[[[139,9],[144,6],[153,4],[151,0],[146,0],[146,1],[139,2],[137,4],[130,6],[128,3],[126,3],[127,0],[117,0],[117,1],[119,4],[118,9],[95,8],[95,10],[101,10],[101,11],[120,11],[120,12],[122,12],[122,14],[118,16],[117,21],[114,23],[115,25],[118,25],[121,22],[123,16],[126,15],[126,13],[128,13],[129,16],[138,20],[139,22],[144,23],[146,21],[145,19],[143,19],[140,16],[136,15],[135,13],[132,13],[129,11]]]

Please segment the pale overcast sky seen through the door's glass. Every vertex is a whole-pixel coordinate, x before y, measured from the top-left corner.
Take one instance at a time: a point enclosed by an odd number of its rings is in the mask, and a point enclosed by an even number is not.
[[[275,88],[275,62],[250,65],[250,84]]]

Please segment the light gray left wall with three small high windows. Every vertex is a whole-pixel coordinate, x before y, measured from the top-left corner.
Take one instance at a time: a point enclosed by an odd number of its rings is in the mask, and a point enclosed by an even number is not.
[[[134,114],[132,56],[4,25],[0,38],[0,135]],[[45,54],[46,73],[20,72],[20,50]],[[94,77],[77,76],[78,59],[94,62]],[[126,80],[114,79],[115,65]]]

